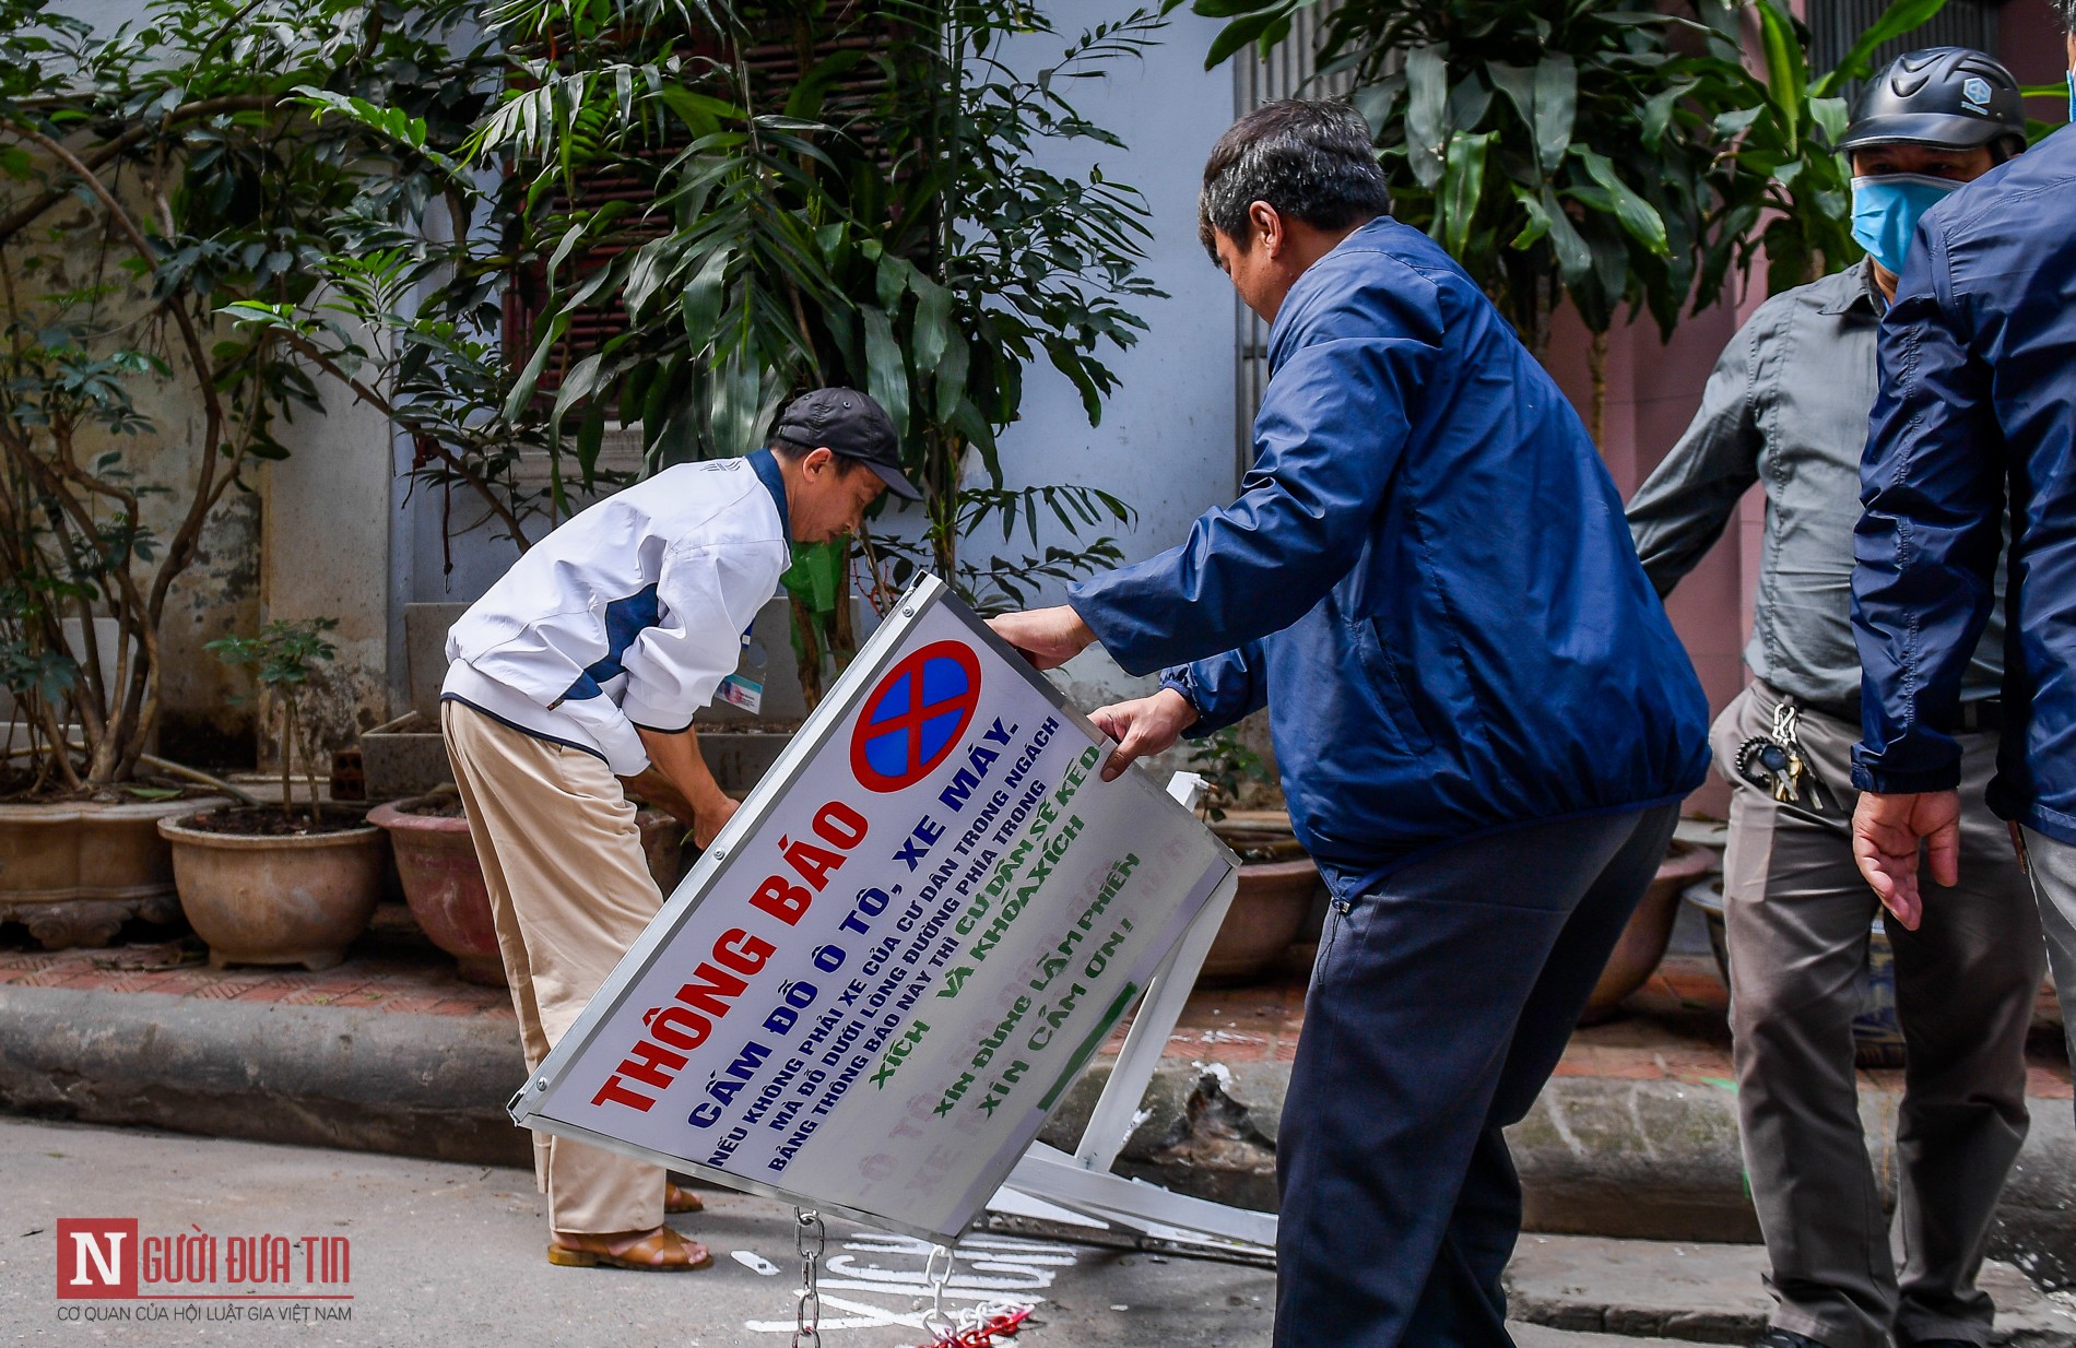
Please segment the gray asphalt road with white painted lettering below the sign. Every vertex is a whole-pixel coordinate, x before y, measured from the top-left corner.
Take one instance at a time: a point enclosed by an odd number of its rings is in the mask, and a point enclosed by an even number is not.
[[[722,1192],[706,1198],[706,1213],[673,1221],[712,1246],[712,1269],[554,1269],[544,1259],[542,1198],[531,1174],[517,1169],[0,1117],[0,1344],[791,1344],[799,1275],[791,1209]],[[143,1290],[276,1300],[60,1300],[58,1219],[66,1217],[135,1217]],[[152,1244],[181,1234],[189,1244]],[[216,1238],[214,1282],[152,1279],[154,1250],[210,1248],[203,1236]],[[233,1250],[233,1238],[253,1236],[284,1240]],[[347,1244],[305,1244],[313,1236]],[[345,1255],[345,1282],[322,1282],[307,1250],[332,1255],[334,1265]],[[282,1255],[286,1282],[233,1286],[230,1261],[249,1255],[262,1267]],[[69,1242],[69,1275],[81,1257]],[[905,1236],[830,1223],[824,1344],[926,1344],[926,1259],[928,1246]],[[100,1277],[89,1265],[87,1286]],[[1030,1348],[1260,1346],[1273,1298],[1268,1269],[1015,1234],[969,1236],[947,1288],[953,1311],[982,1300],[1034,1304],[1034,1327],[1015,1340]]]

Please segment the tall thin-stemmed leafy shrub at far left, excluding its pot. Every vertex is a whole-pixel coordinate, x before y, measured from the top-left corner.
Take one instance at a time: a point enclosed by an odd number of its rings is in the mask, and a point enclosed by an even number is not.
[[[442,145],[504,87],[471,23],[461,0],[154,0],[95,33],[48,0],[0,0],[0,631],[12,660],[73,669],[29,700],[56,785],[133,775],[168,602],[226,496],[291,451],[326,380],[367,393],[311,361],[299,324],[343,328],[324,287],[353,268],[363,289],[388,282],[382,245],[463,199]],[[384,133],[313,118],[316,96],[380,108]],[[457,287],[490,295],[486,274]]]

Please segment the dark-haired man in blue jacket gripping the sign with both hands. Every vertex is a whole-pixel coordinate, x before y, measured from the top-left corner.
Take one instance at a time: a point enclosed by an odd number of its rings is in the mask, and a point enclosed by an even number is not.
[[[1279,102],[1204,168],[1200,233],[1271,328],[1229,507],[1061,609],[1150,698],[1115,777],[1268,706],[1333,891],[1277,1140],[1275,1342],[1505,1344],[1534,1103],[1709,762],[1709,708],[1563,395],[1426,235],[1349,108]]]

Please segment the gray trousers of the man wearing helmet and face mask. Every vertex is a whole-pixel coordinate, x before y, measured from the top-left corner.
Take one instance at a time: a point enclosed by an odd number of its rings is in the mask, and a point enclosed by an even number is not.
[[[1754,683],[1717,719],[1731,779],[1723,897],[1744,1165],[1767,1240],[1773,1323],[1829,1348],[1989,1338],[1974,1286],[1997,1196],[2026,1138],[2026,1028],[2045,951],[2007,829],[1983,806],[1995,735],[1962,735],[1960,887],[1889,922],[1908,1066],[1895,1217],[1866,1153],[1852,1018],[1881,906],[1852,860],[1860,727],[1802,712],[1802,758],[1833,808],[1775,804],[1733,771],[1779,696]]]

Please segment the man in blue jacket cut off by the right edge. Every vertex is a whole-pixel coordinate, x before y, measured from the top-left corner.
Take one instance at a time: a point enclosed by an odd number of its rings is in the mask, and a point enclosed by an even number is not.
[[[2076,0],[2070,33],[2076,114]],[[1881,324],[1852,606],[1862,685],[1854,852],[1916,931],[1918,874],[1960,877],[1962,671],[1989,621],[2005,511],[2003,746],[2012,820],[2076,1034],[2076,131],[1933,206]]]

